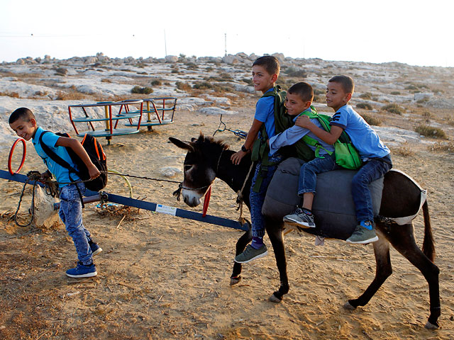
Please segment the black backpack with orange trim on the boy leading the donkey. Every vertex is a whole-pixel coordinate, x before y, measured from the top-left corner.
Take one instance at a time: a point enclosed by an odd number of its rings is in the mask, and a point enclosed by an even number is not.
[[[63,166],[64,168],[70,170],[70,173],[77,174],[82,181],[87,181],[90,179],[89,173],[87,166],[82,162],[82,159],[80,159],[79,156],[70,148],[70,147],[65,147],[68,154],[70,154],[70,157],[72,159],[72,162],[77,165],[77,171],[74,169],[70,164],[68,164],[65,159],[62,159],[62,157],[58,156],[55,154],[55,152],[50,149],[47,145],[43,143],[43,135],[49,131],[44,131],[40,135],[40,146],[47,154],[50,159],[52,159],[54,162],[57,164]],[[67,133],[61,133],[57,132],[55,133],[57,136],[61,137],[70,137]],[[84,135],[84,139],[80,143],[82,144],[82,147],[84,147],[85,151],[89,155],[90,159],[92,160],[93,164],[96,166],[96,168],[101,171],[101,175],[97,177],[96,179],[92,179],[91,181],[85,182],[85,188],[91,190],[91,191],[101,191],[103,188],[105,188],[107,184],[107,162],[106,162],[106,154],[104,154],[104,150],[102,149],[101,144],[96,140],[95,137],[89,134]]]

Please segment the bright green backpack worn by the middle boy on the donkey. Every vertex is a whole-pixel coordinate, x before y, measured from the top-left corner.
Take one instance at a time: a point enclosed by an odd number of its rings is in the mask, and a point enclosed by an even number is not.
[[[329,124],[332,119],[331,116],[317,113],[314,106],[311,106],[311,112],[305,111],[300,113],[300,115],[307,115],[309,118],[317,118],[321,126],[323,126],[323,129],[326,131],[331,130],[331,125]],[[319,141],[314,140],[314,138],[309,137],[308,135],[305,135],[302,140],[307,145],[316,148],[315,156],[318,158],[323,158],[320,156],[320,149],[324,149],[330,155],[333,153],[325,149]],[[336,156],[336,164],[345,169],[356,170],[362,165],[360,154],[358,154],[358,150],[353,146],[350,137],[345,131],[343,131],[341,136],[339,136],[339,139],[334,142],[334,154]]]

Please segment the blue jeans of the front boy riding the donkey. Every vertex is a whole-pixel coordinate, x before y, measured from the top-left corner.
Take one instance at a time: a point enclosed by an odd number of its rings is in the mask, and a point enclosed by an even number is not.
[[[268,186],[270,185],[272,175],[275,174],[277,169],[277,165],[282,160],[282,156],[280,154],[273,154],[268,159],[269,162],[273,162],[276,165],[268,166],[268,171],[263,173],[262,185],[260,186],[260,191],[256,193],[253,191],[255,186],[255,182],[257,181],[257,176],[260,172],[260,166],[262,162],[258,162],[257,166],[255,166],[255,173],[253,177],[253,182],[250,186],[250,221],[252,224],[252,232],[253,237],[263,237],[265,235],[265,220],[263,219],[262,215],[262,206],[265,202],[265,196],[267,194]]]

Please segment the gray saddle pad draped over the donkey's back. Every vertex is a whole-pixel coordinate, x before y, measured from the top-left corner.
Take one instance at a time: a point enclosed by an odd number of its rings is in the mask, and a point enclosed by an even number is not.
[[[262,213],[282,220],[299,205],[299,168],[304,161],[297,158],[284,160],[268,187]],[[310,234],[335,239],[348,239],[357,225],[351,182],[356,171],[340,169],[317,175],[314,197],[315,228],[304,229]],[[382,200],[383,177],[369,185],[374,216],[378,215]]]

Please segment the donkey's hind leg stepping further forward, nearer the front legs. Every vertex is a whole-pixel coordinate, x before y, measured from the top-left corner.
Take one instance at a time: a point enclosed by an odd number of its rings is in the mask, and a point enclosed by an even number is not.
[[[377,290],[382,286],[384,281],[392,274],[391,260],[389,259],[389,242],[377,230],[378,241],[374,242],[375,263],[375,278],[370,283],[369,287],[357,299],[348,300],[343,307],[353,310],[358,306],[364,306],[372,299],[372,296],[377,293]]]

